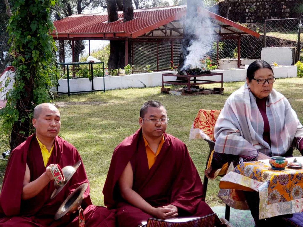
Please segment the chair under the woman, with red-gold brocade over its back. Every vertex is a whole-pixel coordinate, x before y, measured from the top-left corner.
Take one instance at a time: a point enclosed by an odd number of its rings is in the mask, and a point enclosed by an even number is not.
[[[199,110],[193,126],[191,127],[190,132],[190,139],[198,139],[203,138],[209,146],[209,153],[206,160],[205,169],[208,168],[208,161],[211,157],[211,153],[215,150],[215,142],[213,134],[214,134],[214,127],[219,116],[221,110]],[[224,174],[225,175],[225,174]],[[224,176],[220,175],[220,176]],[[207,185],[208,185],[208,177],[204,173],[204,180],[203,180],[203,195],[204,199],[206,198],[207,192]],[[225,219],[229,221],[230,216],[230,206],[227,204],[225,205]]]

